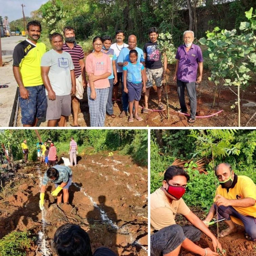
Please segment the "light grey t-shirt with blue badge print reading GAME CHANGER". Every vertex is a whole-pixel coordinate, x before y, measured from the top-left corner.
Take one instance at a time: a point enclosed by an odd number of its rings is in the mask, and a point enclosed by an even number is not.
[[[47,51],[41,60],[42,67],[50,67],[48,77],[52,90],[58,96],[69,95],[71,92],[71,74],[74,69],[72,58],[68,52],[58,53],[54,49]],[[45,89],[46,95],[48,95]]]

